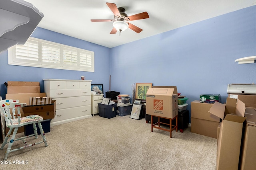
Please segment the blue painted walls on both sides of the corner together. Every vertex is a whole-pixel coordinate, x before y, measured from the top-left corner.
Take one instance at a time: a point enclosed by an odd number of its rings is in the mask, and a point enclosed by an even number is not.
[[[199,100],[200,94],[220,94],[226,102],[228,84],[256,83],[256,63],[234,62],[256,55],[256,6],[111,49],[42,28],[32,37],[94,51],[95,72],[11,66],[4,51],[0,54],[3,98],[7,81],[39,81],[43,92],[44,78],[80,79],[82,75],[92,84],[104,84],[106,92],[111,74],[111,90],[121,94],[132,95],[136,82],[177,86],[189,98],[190,110],[190,102]]]

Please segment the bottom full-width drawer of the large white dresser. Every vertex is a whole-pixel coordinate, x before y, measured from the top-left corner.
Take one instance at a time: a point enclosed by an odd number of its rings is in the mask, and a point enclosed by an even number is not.
[[[56,110],[56,116],[54,117],[54,119],[52,119],[51,122],[72,119],[72,118],[90,115],[90,114],[91,114],[90,106],[80,106],[80,107],[73,107],[68,109],[60,109],[60,110]]]

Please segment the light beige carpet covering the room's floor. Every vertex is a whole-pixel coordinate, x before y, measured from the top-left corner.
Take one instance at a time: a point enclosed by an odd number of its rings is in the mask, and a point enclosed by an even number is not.
[[[95,115],[56,125],[46,138],[48,147],[40,144],[11,152],[7,159],[10,164],[1,161],[0,169],[216,170],[216,139],[191,133],[189,127],[184,133],[172,131],[170,138],[168,131],[153,128],[151,132],[145,119],[131,119],[129,115],[111,119]],[[16,146],[22,145],[19,141]],[[0,150],[1,160],[6,148]]]

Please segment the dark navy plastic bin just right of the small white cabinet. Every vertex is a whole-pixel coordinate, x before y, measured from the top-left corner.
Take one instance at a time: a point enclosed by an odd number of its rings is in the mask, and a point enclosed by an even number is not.
[[[99,106],[99,116],[105,118],[116,117],[116,103],[115,104],[101,104],[98,103]]]

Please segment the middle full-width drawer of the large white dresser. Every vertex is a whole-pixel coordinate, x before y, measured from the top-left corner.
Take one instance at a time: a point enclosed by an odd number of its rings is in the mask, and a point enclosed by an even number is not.
[[[56,109],[65,109],[70,107],[90,105],[90,96],[78,96],[68,98],[55,98]]]

